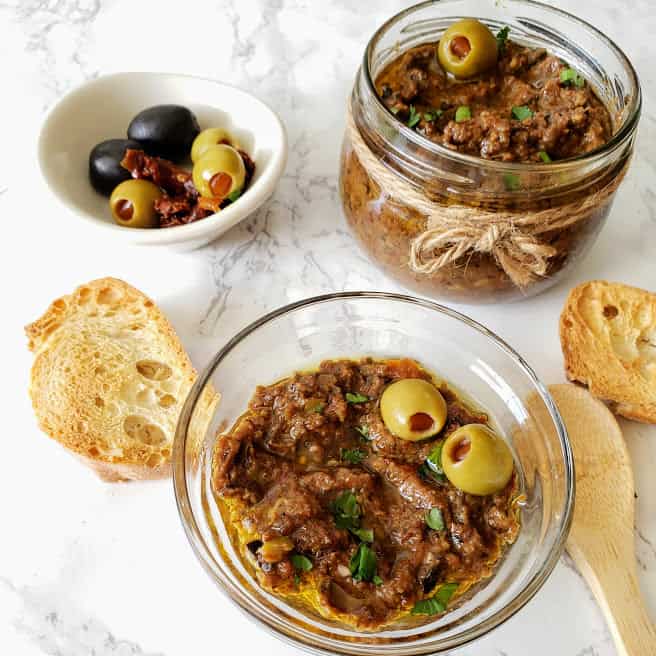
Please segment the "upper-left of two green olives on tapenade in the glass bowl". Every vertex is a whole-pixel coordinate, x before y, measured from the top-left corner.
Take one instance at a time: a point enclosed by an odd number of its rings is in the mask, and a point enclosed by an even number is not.
[[[415,442],[442,430],[446,422],[446,401],[427,380],[402,378],[383,392],[380,414],[391,433]]]

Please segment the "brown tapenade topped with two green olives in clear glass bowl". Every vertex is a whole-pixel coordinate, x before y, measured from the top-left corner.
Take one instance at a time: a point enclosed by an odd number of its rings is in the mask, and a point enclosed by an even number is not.
[[[509,447],[407,359],[258,387],[217,440],[212,489],[266,590],[365,630],[443,613],[519,531]]]

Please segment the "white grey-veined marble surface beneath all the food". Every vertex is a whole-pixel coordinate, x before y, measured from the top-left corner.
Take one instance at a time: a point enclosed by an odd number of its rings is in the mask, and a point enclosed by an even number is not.
[[[161,304],[202,367],[264,310],[320,292],[396,289],[354,247],[339,210],[336,170],[344,103],[365,42],[404,4],[0,1],[0,653],[296,652],[255,628],[214,588],[187,546],[170,483],[104,485],[39,433],[26,394],[31,356],[22,326],[78,283],[119,276]],[[563,380],[556,326],[570,285],[603,277],[656,289],[656,5],[553,4],[581,12],[626,49],[642,78],[645,112],[631,172],[575,276],[524,304],[462,308],[513,344],[547,382]],[[287,124],[291,154],[268,205],[186,255],[81,236],[37,184],[34,142],[44,110],[61,94],[122,70],[214,77],[272,104]],[[636,473],[641,584],[656,617],[656,427],[623,427]],[[586,585],[564,558],[522,612],[457,653],[615,651]]]

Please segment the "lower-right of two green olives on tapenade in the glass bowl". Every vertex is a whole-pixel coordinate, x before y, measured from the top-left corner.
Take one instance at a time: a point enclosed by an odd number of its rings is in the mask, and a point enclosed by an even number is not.
[[[513,473],[513,457],[493,430],[484,424],[467,424],[444,442],[442,469],[463,492],[486,496],[506,487]]]

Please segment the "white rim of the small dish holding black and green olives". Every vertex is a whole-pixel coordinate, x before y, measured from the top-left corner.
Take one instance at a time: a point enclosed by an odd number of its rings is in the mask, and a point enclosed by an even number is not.
[[[267,166],[263,169],[262,175],[249,187],[247,193],[238,199],[238,202],[231,204],[227,208],[211,214],[199,221],[188,223],[180,226],[173,226],[171,228],[158,228],[158,229],[126,229],[123,226],[104,221],[93,213],[86,212],[78,207],[62,190],[60,187],[54,185],[50,181],[50,176],[47,173],[48,166],[47,152],[44,144],[46,134],[53,116],[61,111],[65,103],[70,103],[76,100],[76,96],[88,91],[94,86],[107,84],[108,82],[123,81],[124,84],[134,84],[135,78],[160,78],[164,81],[166,78],[169,80],[178,80],[182,83],[195,81],[206,84],[212,84],[219,89],[229,89],[231,93],[241,95],[250,103],[257,105],[262,111],[267,113],[272,119],[273,137],[275,146],[271,149],[271,159]],[[216,105],[211,105],[218,107]],[[251,130],[253,133],[256,130]],[[108,137],[110,138],[110,137]],[[266,102],[255,96],[254,94],[238,87],[236,85],[227,84],[219,80],[203,77],[200,75],[189,75],[183,73],[166,73],[158,71],[121,71],[117,73],[108,73],[107,75],[100,75],[90,80],[85,80],[80,84],[70,89],[63,96],[58,98],[56,102],[50,106],[43,117],[41,128],[37,138],[37,159],[39,171],[41,173],[41,180],[46,186],[48,191],[57,199],[57,201],[68,209],[76,218],[82,219],[87,228],[98,228],[104,231],[105,235],[113,235],[118,239],[123,239],[128,242],[134,242],[141,245],[167,245],[178,242],[192,241],[196,238],[207,236],[208,233],[221,229],[226,231],[233,227],[243,219],[247,218],[250,214],[255,212],[274,192],[276,185],[282,177],[285,166],[287,164],[288,154],[288,139],[287,131],[282,119],[276,111],[274,111]]]

